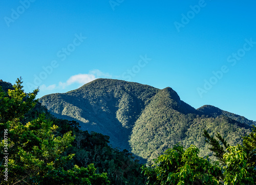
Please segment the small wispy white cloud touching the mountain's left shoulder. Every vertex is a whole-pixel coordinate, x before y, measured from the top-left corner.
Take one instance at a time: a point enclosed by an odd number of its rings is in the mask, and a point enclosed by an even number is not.
[[[50,85],[48,87],[45,84],[41,85],[40,90],[44,91],[44,90],[53,90],[53,89],[65,89],[66,87],[72,84],[79,84],[79,87],[80,87],[84,84],[87,84],[89,82],[96,80],[99,77],[110,78],[112,77],[112,75],[110,75],[109,73],[104,73],[98,69],[93,69],[89,71],[88,74],[75,74],[73,76],[70,76],[66,82],[59,82],[58,86],[56,86],[56,84]]]

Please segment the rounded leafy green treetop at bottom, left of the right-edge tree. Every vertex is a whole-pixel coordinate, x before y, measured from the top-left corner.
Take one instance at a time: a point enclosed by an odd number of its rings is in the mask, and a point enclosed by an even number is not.
[[[218,162],[198,156],[199,149],[175,145],[154,160],[152,167],[143,166],[147,184],[219,184],[221,168]]]

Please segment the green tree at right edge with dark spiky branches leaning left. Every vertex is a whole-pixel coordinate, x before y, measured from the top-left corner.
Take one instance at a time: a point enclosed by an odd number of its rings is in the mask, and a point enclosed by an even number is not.
[[[209,148],[222,164],[224,184],[256,183],[256,129],[243,137],[243,145],[230,146],[217,134],[217,139],[204,130],[204,137],[212,147]],[[224,147],[226,150],[224,150]]]

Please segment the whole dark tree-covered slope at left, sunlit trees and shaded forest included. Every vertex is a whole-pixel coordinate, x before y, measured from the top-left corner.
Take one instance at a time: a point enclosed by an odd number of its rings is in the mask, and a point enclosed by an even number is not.
[[[0,83],[0,184],[144,184],[141,164],[109,136],[55,118],[19,79]]]

